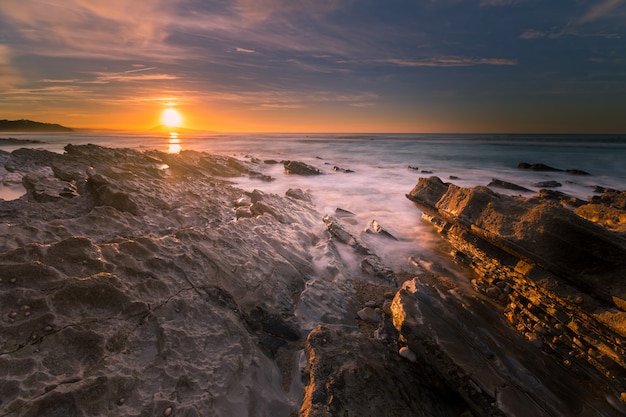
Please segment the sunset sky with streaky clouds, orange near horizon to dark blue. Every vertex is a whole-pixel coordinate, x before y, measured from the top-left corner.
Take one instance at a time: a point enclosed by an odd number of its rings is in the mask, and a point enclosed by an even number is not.
[[[626,133],[626,0],[1,0],[0,119]]]

